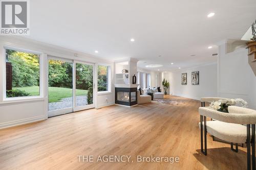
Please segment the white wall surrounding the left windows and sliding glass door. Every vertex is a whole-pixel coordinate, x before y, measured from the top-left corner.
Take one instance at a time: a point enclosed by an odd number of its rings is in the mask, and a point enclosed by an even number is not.
[[[43,60],[47,61],[46,56],[55,56],[67,58],[77,61],[90,62],[97,64],[104,64],[111,66],[111,92],[96,93],[95,107],[102,107],[114,104],[114,62],[99,59],[95,56],[80,53],[77,51],[69,50],[66,48],[26,39],[23,37],[1,36],[0,39],[0,68],[5,67],[4,61],[4,46],[21,48],[25,50],[36,51],[42,53]],[[77,54],[78,57],[75,57]],[[43,69],[42,79],[45,79],[47,62],[45,62]],[[5,75],[3,69],[0,69],[0,128],[15,126],[34,122],[48,118],[48,84],[46,81],[43,83],[42,95],[39,99],[28,101],[12,101],[6,102],[3,99],[4,94],[4,80]],[[95,87],[97,89],[97,86]]]

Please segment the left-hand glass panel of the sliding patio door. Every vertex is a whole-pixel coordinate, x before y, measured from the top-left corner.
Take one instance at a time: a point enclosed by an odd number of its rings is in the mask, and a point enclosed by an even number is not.
[[[73,61],[48,59],[49,117],[73,112]]]

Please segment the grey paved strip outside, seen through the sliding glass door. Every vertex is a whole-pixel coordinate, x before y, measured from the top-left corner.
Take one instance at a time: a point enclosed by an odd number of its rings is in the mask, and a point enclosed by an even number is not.
[[[84,105],[87,105],[87,96],[86,95],[76,96],[76,106],[84,106]],[[49,111],[73,107],[73,97],[63,98],[61,99],[60,102],[49,103],[48,106],[49,106]]]

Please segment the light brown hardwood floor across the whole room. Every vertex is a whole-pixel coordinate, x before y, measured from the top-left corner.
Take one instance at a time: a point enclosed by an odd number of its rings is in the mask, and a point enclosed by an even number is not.
[[[199,101],[167,98],[181,104],[110,106],[0,130],[0,169],[246,169],[245,148],[232,152],[209,135],[208,155],[201,154]],[[94,155],[94,162],[78,155]],[[96,162],[99,155],[131,155],[134,162]],[[137,162],[138,155],[180,161]]]

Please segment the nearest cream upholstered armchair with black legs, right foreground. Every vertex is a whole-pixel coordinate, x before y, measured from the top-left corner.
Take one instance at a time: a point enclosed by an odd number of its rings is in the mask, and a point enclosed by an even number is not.
[[[203,104],[202,104],[203,105]],[[256,110],[229,106],[229,113],[223,113],[206,107],[199,108],[200,130],[201,130],[201,152],[207,155],[207,132],[222,140],[232,143],[246,143],[247,145],[247,169],[255,170],[255,124]],[[206,117],[216,119],[206,121]],[[243,125],[246,126],[243,126]],[[251,128],[250,128],[251,125]],[[204,150],[203,150],[203,131],[204,131]],[[252,146],[252,160],[250,158]],[[238,145],[236,144],[238,151]],[[234,150],[234,151],[236,151]]]

